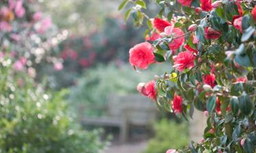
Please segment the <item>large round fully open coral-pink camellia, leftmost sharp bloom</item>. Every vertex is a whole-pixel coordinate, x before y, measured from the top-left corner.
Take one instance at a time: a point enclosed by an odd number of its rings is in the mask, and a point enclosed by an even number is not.
[[[137,44],[130,49],[130,64],[141,69],[147,69],[148,65],[155,62],[153,46],[148,42]]]

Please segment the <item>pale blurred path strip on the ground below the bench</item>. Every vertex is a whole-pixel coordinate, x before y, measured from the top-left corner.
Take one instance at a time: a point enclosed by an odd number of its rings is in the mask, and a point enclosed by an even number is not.
[[[109,146],[105,153],[141,153],[147,147],[147,141]]]

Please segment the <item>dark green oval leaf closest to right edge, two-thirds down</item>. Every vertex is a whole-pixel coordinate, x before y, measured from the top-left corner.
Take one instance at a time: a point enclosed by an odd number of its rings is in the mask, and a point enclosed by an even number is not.
[[[253,103],[251,101],[251,97],[249,97],[246,92],[242,93],[242,96],[239,98],[240,110],[242,114],[248,116],[251,113],[251,109],[253,108]]]

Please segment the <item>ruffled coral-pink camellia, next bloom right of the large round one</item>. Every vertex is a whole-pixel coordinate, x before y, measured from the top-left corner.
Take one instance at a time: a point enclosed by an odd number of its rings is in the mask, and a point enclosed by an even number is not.
[[[184,69],[191,69],[194,67],[195,56],[190,51],[180,52],[174,57],[173,67],[178,71],[184,71]]]

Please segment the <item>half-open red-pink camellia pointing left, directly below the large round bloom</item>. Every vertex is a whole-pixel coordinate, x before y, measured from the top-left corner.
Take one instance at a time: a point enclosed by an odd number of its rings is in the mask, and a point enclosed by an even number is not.
[[[144,96],[147,96],[151,99],[156,100],[156,82],[154,80],[145,83],[139,83],[137,86],[137,90]]]

